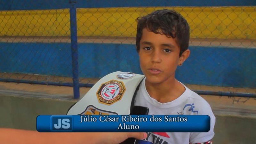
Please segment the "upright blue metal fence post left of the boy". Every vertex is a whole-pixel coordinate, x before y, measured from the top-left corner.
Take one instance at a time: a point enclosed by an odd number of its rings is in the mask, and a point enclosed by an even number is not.
[[[70,39],[72,51],[72,75],[74,99],[79,99],[79,76],[78,76],[78,48],[77,48],[77,28],[76,28],[76,0],[69,0],[70,3]]]

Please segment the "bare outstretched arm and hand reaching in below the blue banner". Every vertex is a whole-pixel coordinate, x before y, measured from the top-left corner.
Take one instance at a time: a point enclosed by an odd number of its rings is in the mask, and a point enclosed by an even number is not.
[[[145,139],[143,132],[37,132],[0,128],[4,144],[119,144],[127,138]]]

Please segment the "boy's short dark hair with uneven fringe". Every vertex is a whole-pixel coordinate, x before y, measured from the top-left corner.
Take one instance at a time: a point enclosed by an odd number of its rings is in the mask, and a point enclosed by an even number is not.
[[[167,37],[176,38],[181,54],[188,49],[189,26],[187,20],[173,10],[157,10],[144,17],[137,18],[136,49],[140,51],[142,30],[147,28],[156,34],[164,34]]]

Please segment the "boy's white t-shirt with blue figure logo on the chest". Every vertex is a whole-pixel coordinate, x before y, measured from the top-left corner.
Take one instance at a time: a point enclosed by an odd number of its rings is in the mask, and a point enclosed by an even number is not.
[[[149,96],[145,87],[145,79],[140,84],[134,105],[149,108],[148,115],[208,115],[211,117],[209,132],[149,132],[147,141],[154,144],[194,144],[203,143],[213,138],[215,116],[206,100],[183,84],[186,90],[180,97],[171,102],[160,103]]]

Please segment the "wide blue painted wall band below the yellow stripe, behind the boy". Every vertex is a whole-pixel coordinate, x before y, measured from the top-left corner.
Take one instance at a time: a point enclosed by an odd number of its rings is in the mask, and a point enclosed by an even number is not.
[[[256,49],[190,46],[179,67],[185,84],[256,87]],[[114,71],[141,74],[132,44],[78,44],[79,76],[102,77]],[[0,43],[0,72],[72,76],[69,43]]]

